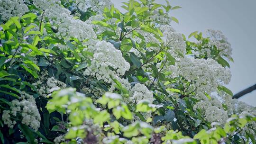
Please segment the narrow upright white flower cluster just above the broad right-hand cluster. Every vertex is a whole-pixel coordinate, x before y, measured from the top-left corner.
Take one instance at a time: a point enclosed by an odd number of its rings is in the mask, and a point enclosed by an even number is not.
[[[163,32],[162,40],[164,41],[165,46],[170,48],[168,50],[170,54],[173,56],[186,54],[186,44],[182,34],[177,33],[170,25],[163,25],[160,27],[160,30]]]

